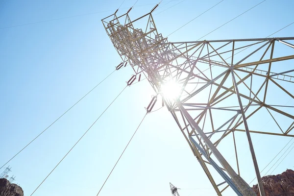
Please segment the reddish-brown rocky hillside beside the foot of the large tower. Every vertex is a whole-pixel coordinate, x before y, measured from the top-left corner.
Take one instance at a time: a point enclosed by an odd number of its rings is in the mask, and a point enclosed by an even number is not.
[[[281,174],[267,175],[261,178],[266,196],[294,196],[294,171],[286,170]],[[253,185],[253,191],[259,195],[258,185]]]

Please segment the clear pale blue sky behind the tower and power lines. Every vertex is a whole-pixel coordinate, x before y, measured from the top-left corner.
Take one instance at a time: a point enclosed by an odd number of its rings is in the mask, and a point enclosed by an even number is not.
[[[134,2],[125,0],[119,14],[126,12]],[[180,0],[168,2],[163,0],[154,12],[155,23],[163,36],[219,0],[185,0],[164,11]],[[173,33],[169,41],[197,40],[258,2],[261,0],[224,0]],[[0,1],[0,165],[121,61],[100,21],[121,3],[122,0]],[[157,3],[156,0],[139,0],[130,16],[132,19],[140,17]],[[294,22],[293,7],[292,0],[266,0],[203,39],[267,37]],[[22,25],[99,11],[101,13]],[[14,25],[22,26],[4,28]],[[293,32],[294,25],[291,25],[274,37],[290,37]],[[130,67],[112,74],[9,163],[13,171],[10,174],[16,175],[16,182],[21,184],[26,196],[123,89],[131,74]],[[34,196],[96,196],[145,115],[144,107],[153,94],[147,80],[127,88]],[[290,100],[289,104],[294,101]],[[270,123],[260,124],[261,129],[269,126]],[[239,137],[242,136],[245,137],[241,134]],[[252,138],[258,148],[261,168],[289,141],[289,138],[264,135]],[[271,142],[276,145],[269,146]],[[274,173],[293,169],[293,153]],[[229,149],[227,157],[232,154]],[[252,164],[248,151],[244,150],[244,157],[243,167]],[[246,177],[251,181],[252,175]],[[172,116],[164,108],[147,115],[100,196],[170,196],[169,182],[180,188],[197,189],[181,190],[181,196],[216,195]]]

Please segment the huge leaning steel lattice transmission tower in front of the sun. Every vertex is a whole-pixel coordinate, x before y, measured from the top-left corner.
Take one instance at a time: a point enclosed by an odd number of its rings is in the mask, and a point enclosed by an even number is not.
[[[133,21],[128,13],[115,13],[102,23],[134,70],[133,78],[144,74],[163,97],[216,193],[221,196],[231,187],[239,196],[256,195],[239,168],[235,134],[245,132],[264,196],[250,133],[294,136],[293,106],[285,103],[294,99],[294,37],[169,42],[158,33],[151,13]],[[162,93],[171,80],[180,86],[176,98]],[[259,131],[252,120],[274,121],[276,127]],[[221,151],[229,137],[235,153],[231,162]]]

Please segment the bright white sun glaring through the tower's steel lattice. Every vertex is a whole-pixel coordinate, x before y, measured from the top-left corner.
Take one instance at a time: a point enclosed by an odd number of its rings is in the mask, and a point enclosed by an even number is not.
[[[175,101],[180,96],[181,90],[181,85],[172,79],[161,85],[161,95],[170,101]]]

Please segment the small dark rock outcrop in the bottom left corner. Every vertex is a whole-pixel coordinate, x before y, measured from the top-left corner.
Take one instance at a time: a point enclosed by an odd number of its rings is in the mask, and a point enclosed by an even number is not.
[[[24,196],[24,191],[22,187],[0,178],[0,196]]]

